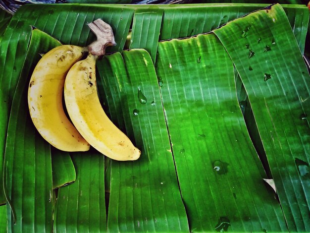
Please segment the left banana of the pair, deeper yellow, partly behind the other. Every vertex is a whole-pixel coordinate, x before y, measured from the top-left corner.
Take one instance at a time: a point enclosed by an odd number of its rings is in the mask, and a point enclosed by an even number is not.
[[[32,121],[42,137],[63,151],[87,151],[89,143],[66,117],[62,106],[64,79],[85,49],[62,45],[45,54],[35,67],[28,88]]]

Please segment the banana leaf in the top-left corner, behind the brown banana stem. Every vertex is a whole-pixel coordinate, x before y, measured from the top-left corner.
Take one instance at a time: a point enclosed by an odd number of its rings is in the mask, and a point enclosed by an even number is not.
[[[28,7],[34,7],[35,9],[29,9]],[[39,13],[42,7],[46,7],[43,11],[47,12],[47,14]],[[34,14],[34,10],[37,11],[37,15]],[[110,13],[111,10],[113,11],[112,14]],[[92,13],[87,13],[88,11]],[[97,13],[94,14],[93,12]],[[6,73],[0,75],[0,107],[2,109],[0,112],[0,128],[3,129],[0,134],[0,155],[2,155],[0,156],[0,162],[3,161],[6,140],[5,129],[7,128],[12,97],[28,49],[31,35],[30,25],[42,29],[65,44],[85,46],[95,40],[95,36],[90,34],[86,22],[101,17],[105,22],[112,25],[115,33],[117,46],[111,51],[121,51],[132,16],[133,9],[123,9],[117,6],[101,6],[99,10],[94,5],[81,8],[78,5],[70,4],[61,5],[61,7],[56,5],[25,5],[21,7],[13,16],[13,20],[10,21],[10,25],[0,44],[0,71]],[[65,23],[63,23],[64,21]],[[3,174],[2,166],[0,166],[0,174]],[[0,190],[0,203],[4,202],[3,190]]]

